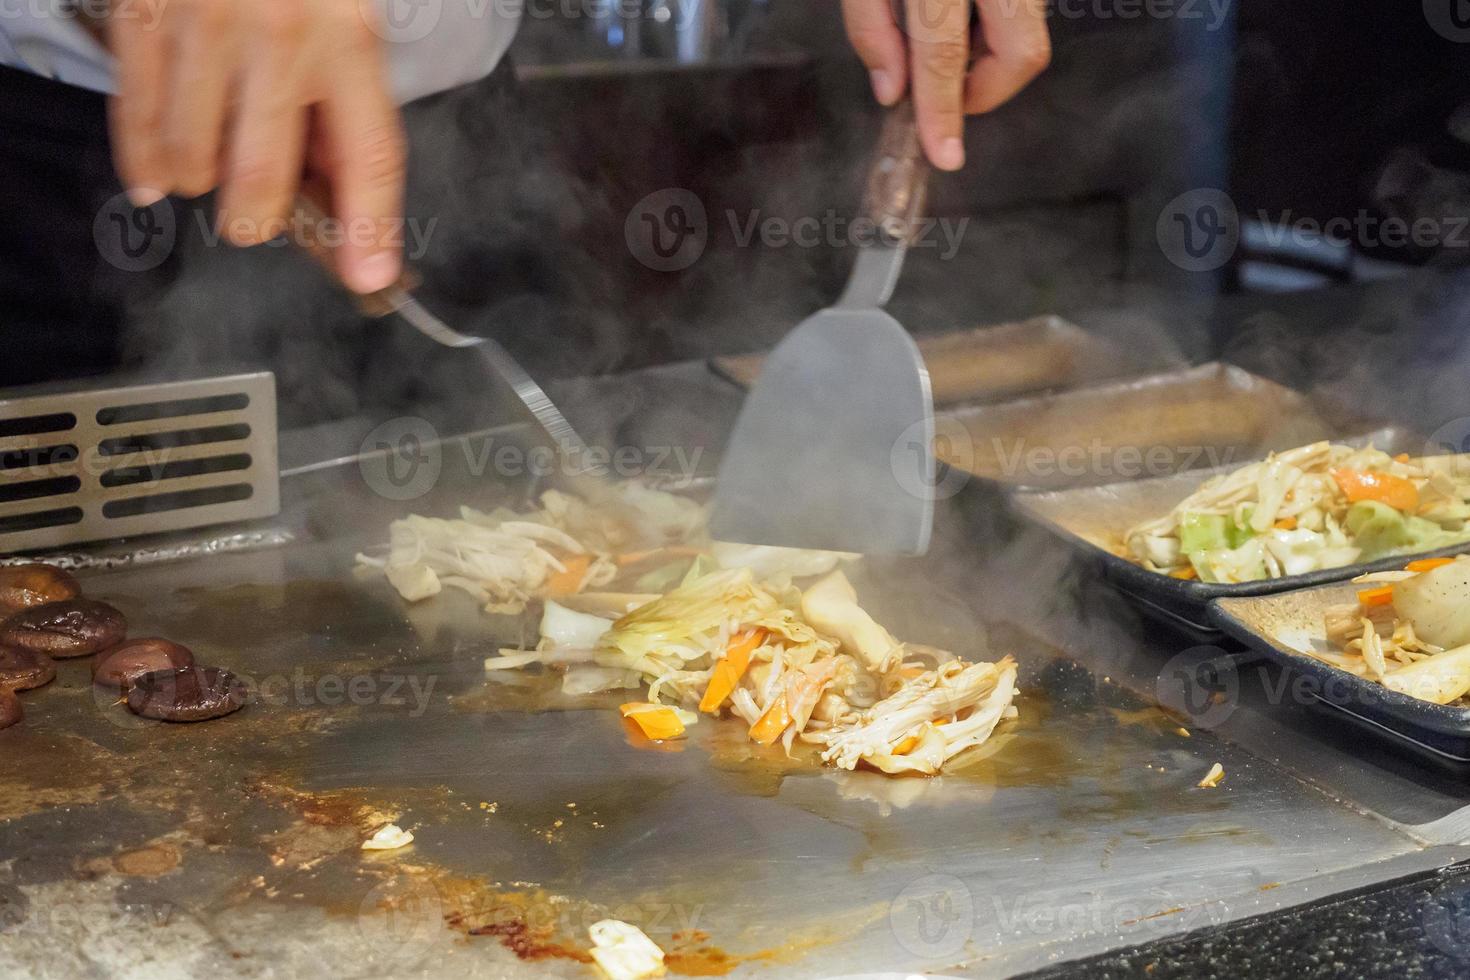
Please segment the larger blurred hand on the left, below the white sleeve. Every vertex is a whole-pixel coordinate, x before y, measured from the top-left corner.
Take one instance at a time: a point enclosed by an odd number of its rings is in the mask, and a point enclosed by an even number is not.
[[[147,7],[147,10],[140,10]],[[338,273],[372,292],[400,272],[404,140],[382,43],[359,0],[141,0],[106,21],[110,106],[132,203],[219,188],[219,228],[268,241],[304,172],[343,225]],[[126,13],[126,16],[123,16]]]

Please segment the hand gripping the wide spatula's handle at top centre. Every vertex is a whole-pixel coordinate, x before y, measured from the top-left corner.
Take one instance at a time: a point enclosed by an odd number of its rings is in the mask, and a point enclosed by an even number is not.
[[[972,63],[970,4],[980,12]],[[913,90],[919,138],[941,170],[964,166],[964,116],[989,112],[1051,62],[1045,0],[842,0],[847,35],[867,66],[878,101]]]

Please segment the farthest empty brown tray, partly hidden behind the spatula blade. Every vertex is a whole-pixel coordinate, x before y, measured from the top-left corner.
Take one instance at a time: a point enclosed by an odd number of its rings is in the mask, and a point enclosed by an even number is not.
[[[1057,316],[919,339],[936,406],[994,403],[1161,367]],[[764,354],[717,357],[714,372],[750,388]]]

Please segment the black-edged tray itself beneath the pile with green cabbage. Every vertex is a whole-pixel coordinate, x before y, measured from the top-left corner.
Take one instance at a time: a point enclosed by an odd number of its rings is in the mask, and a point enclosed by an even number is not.
[[[1358,445],[1373,442],[1388,453],[1421,454],[1424,451],[1423,436],[1407,429],[1380,429],[1370,435],[1344,439],[1344,442]],[[1095,561],[1108,580],[1123,592],[1147,602],[1154,611],[1166,613],[1197,630],[1216,635],[1219,626],[1211,621],[1207,610],[1214,599],[1274,595],[1329,582],[1342,582],[1369,572],[1401,569],[1405,561],[1414,558],[1455,555],[1470,550],[1470,545],[1460,544],[1438,551],[1394,555],[1341,569],[1322,569],[1307,574],[1236,585],[1173,579],[1158,572],[1150,572],[1123,557],[1123,532],[1150,517],[1169,513],[1205,479],[1232,469],[1236,467],[1194,470],[1126,483],[1060,491],[1023,489],[1011,495],[1011,502],[1026,520],[1045,527]]]

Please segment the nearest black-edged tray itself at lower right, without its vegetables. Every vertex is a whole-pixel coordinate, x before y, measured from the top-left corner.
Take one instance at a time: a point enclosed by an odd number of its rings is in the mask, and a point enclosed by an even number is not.
[[[1285,696],[1333,708],[1372,732],[1407,741],[1442,760],[1470,763],[1470,708],[1410,698],[1298,652],[1302,644],[1322,641],[1326,608],[1354,601],[1357,589],[1352,583],[1336,583],[1222,598],[1210,602],[1210,619],[1305,682],[1283,685]]]

